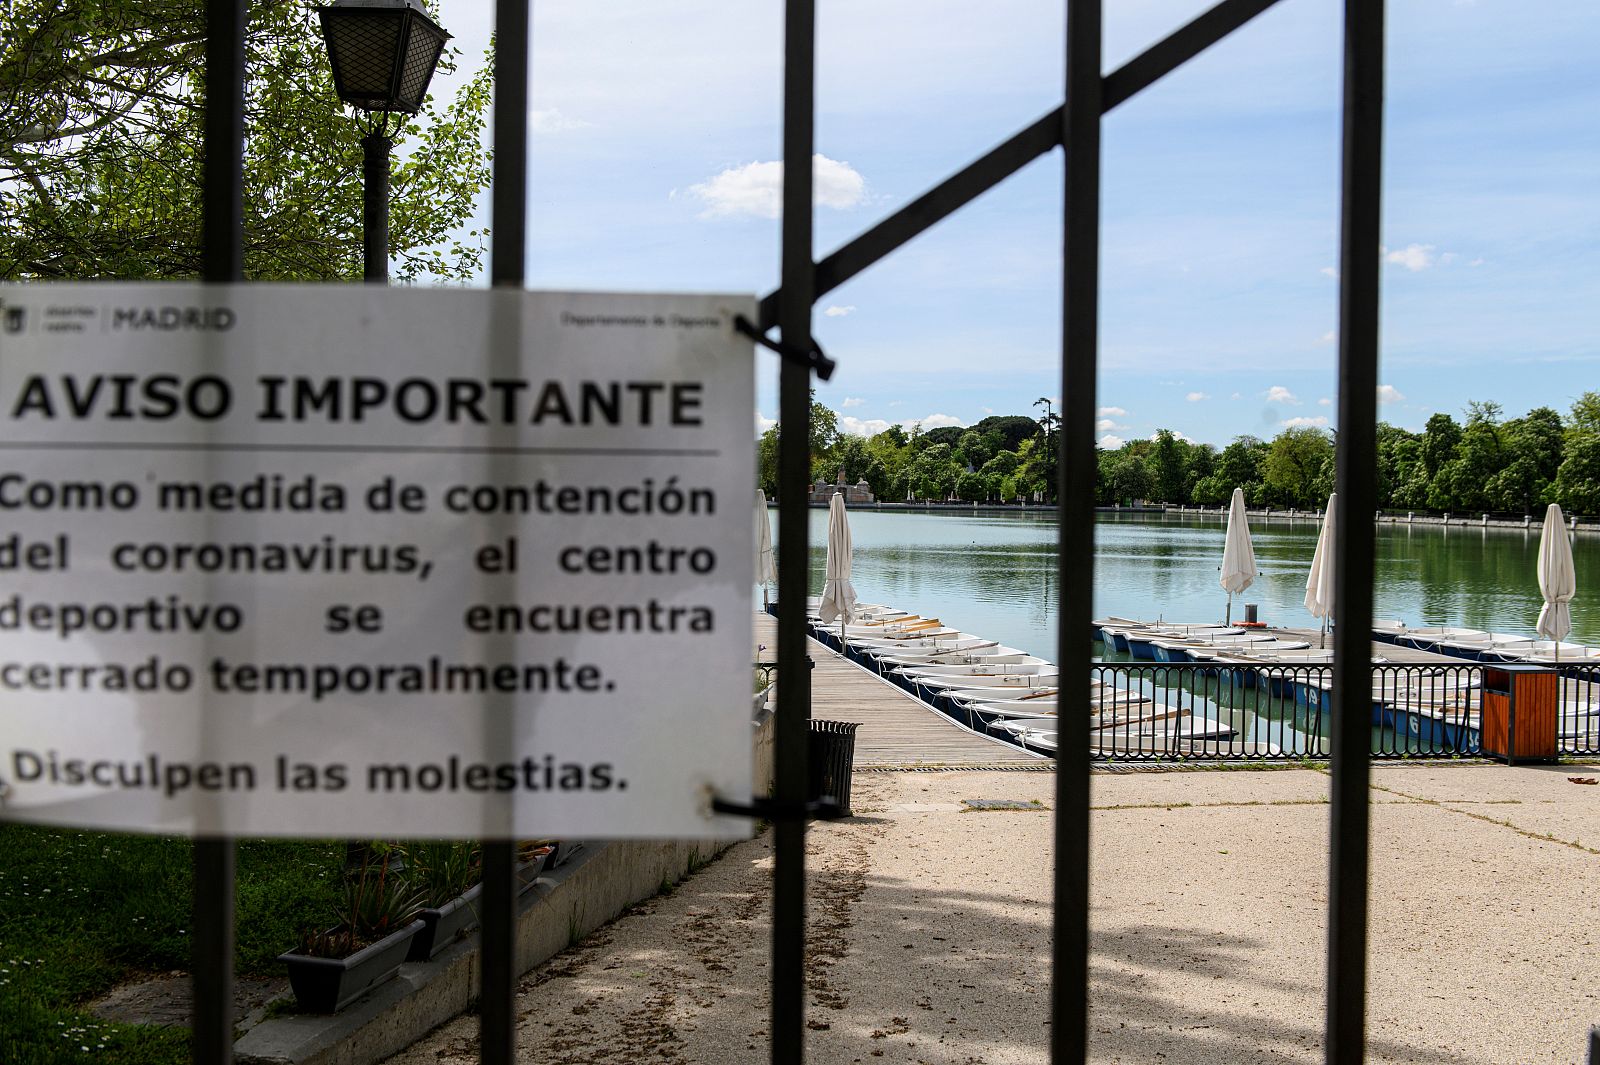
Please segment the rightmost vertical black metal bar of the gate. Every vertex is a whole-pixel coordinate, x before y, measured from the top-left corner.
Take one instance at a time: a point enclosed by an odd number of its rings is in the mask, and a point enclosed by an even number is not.
[[[1366,1039],[1366,878],[1371,776],[1373,512],[1378,445],[1378,238],[1382,192],[1384,2],[1344,5],[1339,201],[1339,441],[1334,517],[1333,782],[1326,1060],[1355,1065]]]

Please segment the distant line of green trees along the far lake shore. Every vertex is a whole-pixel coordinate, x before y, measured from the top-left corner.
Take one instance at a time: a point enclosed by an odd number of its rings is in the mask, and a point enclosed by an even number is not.
[[[1054,499],[1059,417],[986,417],[923,432],[891,425],[874,437],[838,430],[811,403],[811,480],[867,481],[886,502],[1018,502]],[[1221,451],[1162,429],[1150,440],[1101,449],[1096,502],[1226,504],[1234,488],[1254,507],[1314,509],[1334,481],[1333,432],[1299,425],[1270,441],[1237,437]],[[778,491],[778,427],[757,443],[762,486]],[[1466,419],[1434,414],[1419,433],[1378,424],[1378,504],[1395,510],[1536,513],[1558,502],[1600,513],[1600,392],[1563,419],[1539,406],[1507,419],[1498,403],[1469,403]]]

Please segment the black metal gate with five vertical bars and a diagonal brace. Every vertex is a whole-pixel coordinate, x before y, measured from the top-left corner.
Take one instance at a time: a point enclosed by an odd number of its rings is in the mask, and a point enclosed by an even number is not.
[[[778,660],[805,659],[808,563],[810,384],[830,361],[811,339],[816,299],[934,225],[1037,157],[1061,147],[1062,192],[1062,432],[1058,454],[1061,643],[1064,673],[1088,673],[1091,571],[1075,564],[1094,548],[1094,377],[1099,352],[1101,120],[1277,0],[1222,0],[1110,74],[1101,67],[1104,0],[1067,0],[1066,102],[982,158],[878,222],[822,261],[813,257],[811,155],[814,0],[787,0],[784,30],[782,286],[762,301],[750,329],[782,355],[779,374]],[[531,0],[496,0],[494,181],[491,283],[523,285],[526,237],[528,32]],[[243,280],[242,158],[245,0],[206,0],[206,142],[203,249],[206,281]],[[1370,774],[1366,715],[1342,713],[1346,692],[1370,684],[1366,635],[1373,611],[1371,472],[1376,459],[1378,222],[1382,147],[1384,3],[1344,5],[1344,146],[1339,229],[1339,408],[1334,635],[1333,824],[1328,913],[1326,1060],[1363,1059]],[[765,333],[778,328],[779,339]],[[798,1065],[805,1051],[805,796],[810,675],[779,668],[776,836],[773,883],[771,1060]],[[1088,713],[1088,689],[1077,707]],[[1062,696],[1062,713],[1070,713]],[[1088,1051],[1090,903],[1088,732],[1061,734],[1056,772],[1054,947],[1051,1060],[1083,1062]],[[195,843],[195,1060],[232,1060],[234,843]],[[509,1065],[515,1044],[512,971],[512,844],[483,848],[482,1060]]]

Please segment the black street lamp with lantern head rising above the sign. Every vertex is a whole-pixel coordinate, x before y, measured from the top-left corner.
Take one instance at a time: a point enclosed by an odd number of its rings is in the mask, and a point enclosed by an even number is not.
[[[421,0],[334,0],[317,14],[339,99],[368,115],[362,138],[362,277],[387,285],[389,117],[414,115],[422,106],[450,34],[427,16]]]

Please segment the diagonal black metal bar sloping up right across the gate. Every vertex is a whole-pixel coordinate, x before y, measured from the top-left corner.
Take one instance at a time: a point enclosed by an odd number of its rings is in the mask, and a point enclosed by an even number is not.
[[[1277,0],[1222,0],[1200,18],[1166,35],[1104,78],[1101,110],[1110,110],[1162,77],[1194,59],[1235,29],[1256,18]],[[861,233],[816,264],[813,299],[821,299],[891,251],[910,243],[946,217],[966,206],[1002,181],[1061,144],[1066,110],[1048,115],[1014,133],[978,160],[955,171],[899,211]],[[765,333],[778,325],[782,289],[762,299],[760,321]]]

